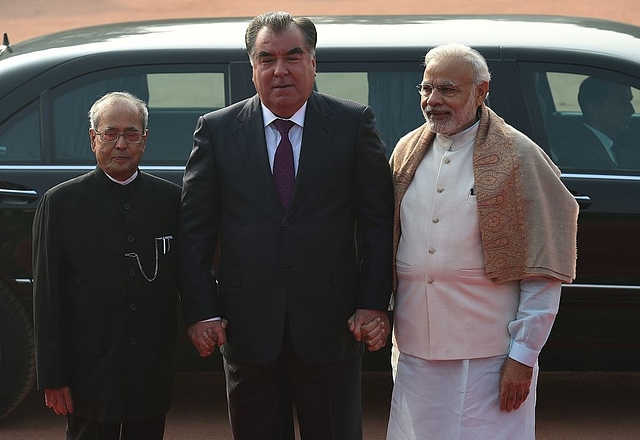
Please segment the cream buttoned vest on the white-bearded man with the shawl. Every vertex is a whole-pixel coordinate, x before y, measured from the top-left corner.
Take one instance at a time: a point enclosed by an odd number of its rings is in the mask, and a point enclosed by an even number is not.
[[[519,283],[495,284],[484,270],[473,194],[475,130],[437,136],[400,210],[395,343],[423,359],[508,353]]]

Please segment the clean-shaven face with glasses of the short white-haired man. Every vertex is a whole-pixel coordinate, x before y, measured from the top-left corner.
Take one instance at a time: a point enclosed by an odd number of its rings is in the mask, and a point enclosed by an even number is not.
[[[130,102],[114,101],[107,104],[99,115],[99,132],[113,130],[117,133],[140,131],[145,136],[139,144],[127,144],[124,136],[116,142],[104,142],[93,128],[89,129],[91,150],[96,155],[98,165],[109,176],[124,181],[138,169],[138,163],[146,147],[146,131],[142,129],[142,119],[138,109]]]

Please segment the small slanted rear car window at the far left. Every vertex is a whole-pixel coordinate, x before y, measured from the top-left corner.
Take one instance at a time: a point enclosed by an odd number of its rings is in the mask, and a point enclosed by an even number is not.
[[[40,106],[33,101],[0,124],[0,163],[35,163],[42,158]]]

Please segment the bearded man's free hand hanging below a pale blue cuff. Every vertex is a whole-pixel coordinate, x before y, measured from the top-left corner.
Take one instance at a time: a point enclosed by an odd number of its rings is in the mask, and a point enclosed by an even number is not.
[[[507,357],[500,368],[498,396],[500,397],[500,411],[511,412],[527,400],[531,389],[533,367]]]

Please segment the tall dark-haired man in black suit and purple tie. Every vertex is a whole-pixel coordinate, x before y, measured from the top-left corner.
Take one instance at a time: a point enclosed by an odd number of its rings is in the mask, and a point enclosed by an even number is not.
[[[245,40],[257,96],[199,119],[183,181],[188,331],[222,346],[235,439],[293,439],[293,403],[303,439],[359,439],[361,341],[389,332],[385,145],[371,108],[313,92],[309,19],[267,13]]]

